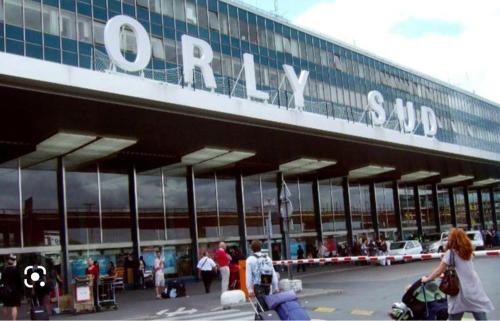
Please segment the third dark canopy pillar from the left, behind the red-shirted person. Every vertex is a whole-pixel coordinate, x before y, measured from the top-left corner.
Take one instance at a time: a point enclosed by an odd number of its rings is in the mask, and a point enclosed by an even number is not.
[[[191,235],[191,269],[193,275],[197,276],[196,265],[198,263],[198,220],[196,213],[196,193],[194,185],[194,170],[193,166],[188,166],[186,169],[186,185],[188,196],[188,211],[189,211],[189,232]]]

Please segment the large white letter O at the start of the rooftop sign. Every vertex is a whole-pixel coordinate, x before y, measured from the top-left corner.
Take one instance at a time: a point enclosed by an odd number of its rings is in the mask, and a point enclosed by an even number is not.
[[[135,35],[137,56],[134,61],[128,61],[122,55],[120,48],[121,32],[123,27],[128,27]],[[104,28],[104,46],[109,59],[115,66],[125,71],[140,71],[146,68],[151,60],[151,42],[149,35],[139,21],[128,16],[115,16],[111,18]]]

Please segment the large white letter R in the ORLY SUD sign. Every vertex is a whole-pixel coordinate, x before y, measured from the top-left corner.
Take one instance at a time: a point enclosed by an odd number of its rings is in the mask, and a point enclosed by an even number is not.
[[[215,83],[214,72],[210,63],[214,58],[214,53],[210,44],[204,40],[194,38],[188,35],[182,35],[182,63],[184,65],[183,75],[184,81],[187,84],[192,84],[193,71],[195,67],[201,69],[201,74],[203,75],[203,81],[205,86],[208,88],[215,89],[217,84]],[[200,57],[194,56],[194,49],[197,48],[200,51]]]

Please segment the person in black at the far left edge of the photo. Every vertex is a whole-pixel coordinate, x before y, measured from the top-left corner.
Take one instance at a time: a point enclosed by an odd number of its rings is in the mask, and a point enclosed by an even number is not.
[[[23,281],[14,254],[10,254],[7,258],[7,265],[2,270],[0,285],[3,319],[16,321],[23,296]]]

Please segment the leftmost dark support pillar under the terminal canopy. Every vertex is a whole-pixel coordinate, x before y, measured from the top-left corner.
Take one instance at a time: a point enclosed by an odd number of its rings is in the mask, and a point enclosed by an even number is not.
[[[43,188],[43,187],[40,187]],[[66,171],[64,158],[57,158],[57,202],[59,207],[59,237],[61,244],[61,273],[63,276],[63,288],[65,293],[69,292],[69,252],[68,252],[68,211],[66,204]],[[21,231],[22,232],[22,231]]]

